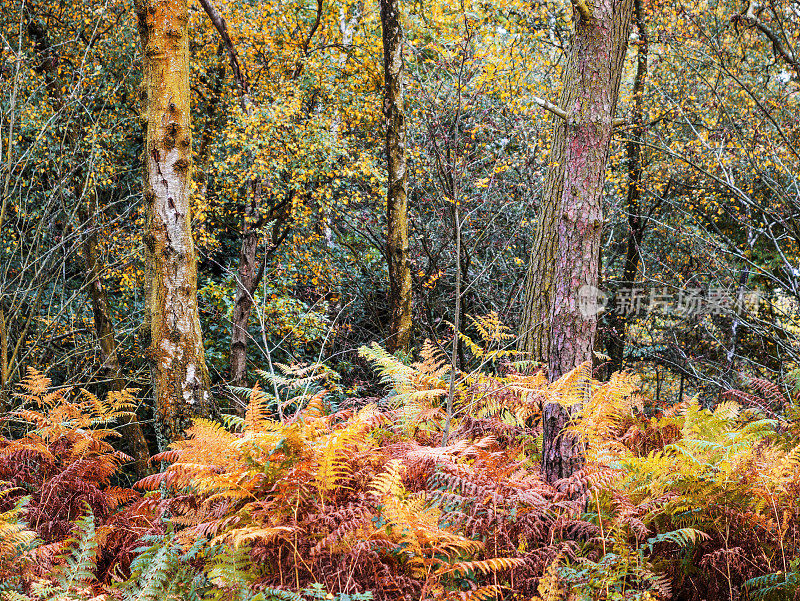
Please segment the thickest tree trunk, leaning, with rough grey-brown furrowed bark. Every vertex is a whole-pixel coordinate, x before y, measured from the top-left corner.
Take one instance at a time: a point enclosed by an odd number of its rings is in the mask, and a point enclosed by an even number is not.
[[[528,272],[523,350],[556,380],[591,360],[597,318],[578,291],[597,286],[601,199],[633,0],[575,0],[575,33],[564,69],[546,196]],[[580,441],[563,432],[580,409],[550,404],[543,415],[542,471],[554,482],[583,464]]]

